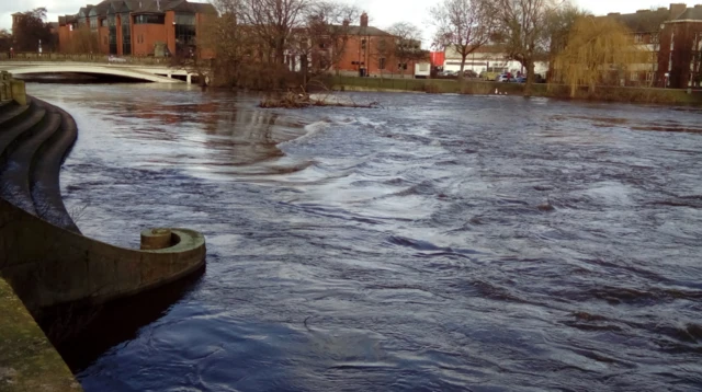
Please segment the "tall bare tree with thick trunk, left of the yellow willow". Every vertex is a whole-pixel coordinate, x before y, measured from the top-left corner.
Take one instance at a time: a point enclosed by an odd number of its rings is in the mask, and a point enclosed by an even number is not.
[[[526,68],[524,96],[531,95],[534,62],[545,60],[548,53],[548,24],[557,0],[495,0],[489,12],[496,15],[497,39],[507,56]]]

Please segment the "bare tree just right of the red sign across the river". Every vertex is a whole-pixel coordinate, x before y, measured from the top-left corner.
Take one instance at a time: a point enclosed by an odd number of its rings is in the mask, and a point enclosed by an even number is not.
[[[468,55],[489,43],[495,23],[486,0],[444,0],[432,7],[431,19],[437,27],[433,46],[451,48],[461,56],[458,79]]]

